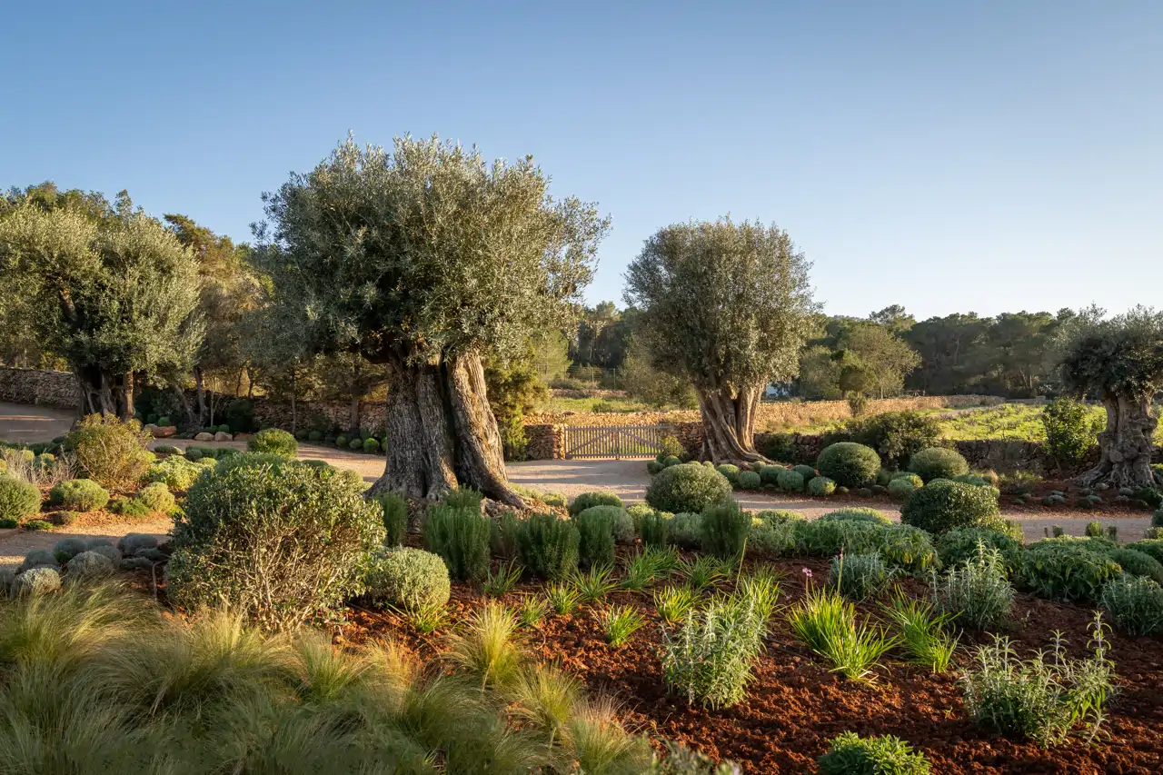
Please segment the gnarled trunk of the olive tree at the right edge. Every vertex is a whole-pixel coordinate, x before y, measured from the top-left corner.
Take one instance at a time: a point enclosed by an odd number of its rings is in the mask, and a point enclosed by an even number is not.
[[[1151,476],[1151,435],[1157,420],[1150,415],[1149,397],[1103,396],[1106,429],[1098,434],[1103,456],[1098,465],[1079,477],[1091,486],[1106,482],[1113,488],[1149,488]]]

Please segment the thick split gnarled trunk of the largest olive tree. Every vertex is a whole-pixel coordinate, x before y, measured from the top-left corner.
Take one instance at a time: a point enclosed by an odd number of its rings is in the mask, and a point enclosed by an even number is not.
[[[372,492],[440,498],[469,486],[512,506],[522,500],[508,485],[497,420],[476,354],[415,365],[388,361],[384,476]]]

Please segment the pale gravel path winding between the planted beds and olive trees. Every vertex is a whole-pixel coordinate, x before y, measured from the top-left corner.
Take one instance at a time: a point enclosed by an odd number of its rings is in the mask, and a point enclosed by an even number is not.
[[[58,436],[67,431],[73,414],[47,410],[44,407],[21,406],[0,403],[0,439],[15,441],[41,441]],[[167,439],[166,443],[178,447],[191,445],[200,447],[234,447],[245,449],[245,442],[198,442],[183,439]],[[311,443],[299,446],[300,460],[323,460],[336,468],[356,470],[368,482],[374,482],[384,472],[384,458],[376,455],[322,447]],[[509,478],[516,484],[549,492],[559,492],[569,498],[592,490],[607,490],[618,493],[628,503],[641,502],[645,496],[650,476],[645,470],[644,460],[545,460],[526,463],[509,463]],[[807,498],[794,498],[766,493],[737,492],[736,497],[744,509],[787,509],[802,512],[815,518],[834,511],[836,504]],[[898,506],[884,503],[870,504],[889,513],[893,519],[900,519]],[[1070,534],[1080,535],[1086,522],[1098,519],[1104,525],[1118,525],[1119,538],[1122,541],[1137,541],[1143,538],[1150,526],[1150,517],[1104,518],[1086,516],[1078,511],[1037,511],[1037,512],[1003,512],[1008,519],[1022,522],[1027,540],[1037,540],[1043,531],[1051,525],[1059,525]],[[62,533],[85,538],[107,536],[116,539],[126,533],[152,533],[163,538],[172,527],[170,520],[152,522],[134,522],[105,525],[100,527],[64,528],[47,533],[21,533],[19,531],[0,529],[0,567],[19,564],[24,554],[33,548],[52,548]]]

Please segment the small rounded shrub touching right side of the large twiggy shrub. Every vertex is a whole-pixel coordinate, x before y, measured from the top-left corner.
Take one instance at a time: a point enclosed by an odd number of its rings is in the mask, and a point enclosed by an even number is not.
[[[363,586],[371,600],[402,611],[443,606],[452,589],[440,555],[411,547],[373,552],[364,568]]]

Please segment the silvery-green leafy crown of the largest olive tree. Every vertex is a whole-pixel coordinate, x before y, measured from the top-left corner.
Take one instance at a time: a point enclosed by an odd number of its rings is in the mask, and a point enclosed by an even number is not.
[[[548,186],[530,157],[348,137],[264,195],[254,261],[314,349],[413,364],[518,355],[530,330],[571,320],[609,227]]]

